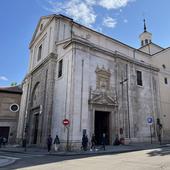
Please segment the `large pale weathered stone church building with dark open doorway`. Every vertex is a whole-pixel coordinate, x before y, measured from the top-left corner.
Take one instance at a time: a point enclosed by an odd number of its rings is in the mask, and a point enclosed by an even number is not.
[[[80,147],[83,133],[95,133],[98,144],[102,133],[108,144],[117,134],[125,142],[147,142],[149,116],[157,140],[160,69],[147,46],[158,47],[146,30],[140,39],[142,47],[135,49],[63,15],[41,17],[29,46],[18,141],[26,137],[29,144],[45,146],[49,134],[58,134],[65,146],[66,118],[72,148]]]

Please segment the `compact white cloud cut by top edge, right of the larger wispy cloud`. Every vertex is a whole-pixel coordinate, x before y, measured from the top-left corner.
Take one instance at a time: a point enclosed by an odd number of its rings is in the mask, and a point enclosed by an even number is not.
[[[125,7],[132,0],[99,0],[99,5],[106,9],[118,9]]]

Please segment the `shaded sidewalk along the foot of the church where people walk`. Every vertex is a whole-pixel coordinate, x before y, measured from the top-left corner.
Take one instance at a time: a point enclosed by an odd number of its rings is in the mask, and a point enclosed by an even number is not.
[[[147,149],[154,149],[154,148],[162,148],[162,147],[170,147],[168,144],[148,144],[148,143],[141,143],[141,144],[128,144],[128,145],[119,145],[119,146],[113,146],[109,145],[106,146],[106,150],[103,150],[101,146],[97,146],[96,150],[94,151],[51,151],[50,155],[58,155],[58,156],[73,156],[73,155],[98,155],[98,154],[116,154],[116,153],[124,153],[124,152],[132,152],[132,151],[139,151],[139,150],[147,150]],[[24,148],[22,147],[16,147],[16,146],[6,146],[5,148],[0,148],[0,151],[3,152],[12,152],[12,153],[23,153],[23,154],[33,154],[33,155],[39,155],[39,154],[49,154],[47,152],[47,149],[43,148],[36,148],[36,147],[28,147],[26,152]]]

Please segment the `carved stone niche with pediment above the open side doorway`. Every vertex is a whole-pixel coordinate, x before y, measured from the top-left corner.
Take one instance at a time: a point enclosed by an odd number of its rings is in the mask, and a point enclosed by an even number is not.
[[[110,86],[111,72],[103,66],[96,68],[96,89],[90,89],[90,104],[116,106],[117,97],[113,87]]]

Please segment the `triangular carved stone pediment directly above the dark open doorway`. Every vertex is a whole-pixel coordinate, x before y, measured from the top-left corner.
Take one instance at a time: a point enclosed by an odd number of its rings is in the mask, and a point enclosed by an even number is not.
[[[91,104],[99,104],[99,105],[117,105],[116,99],[108,96],[105,93],[94,95],[90,100]]]

